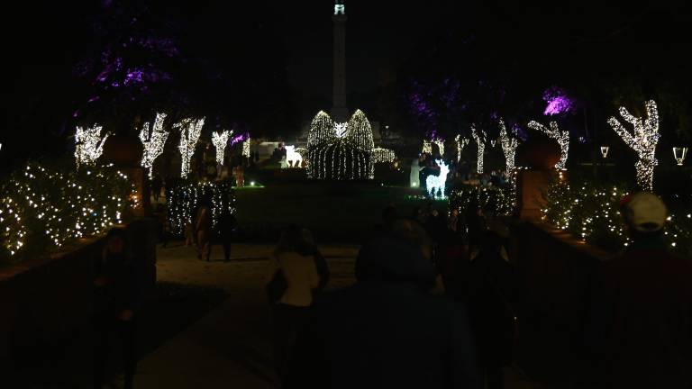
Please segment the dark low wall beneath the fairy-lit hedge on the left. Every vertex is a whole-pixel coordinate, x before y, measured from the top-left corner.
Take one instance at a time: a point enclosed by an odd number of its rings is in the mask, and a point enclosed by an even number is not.
[[[156,224],[125,226],[146,295],[156,281]],[[104,239],[0,268],[0,372],[32,366],[91,330],[95,260]]]

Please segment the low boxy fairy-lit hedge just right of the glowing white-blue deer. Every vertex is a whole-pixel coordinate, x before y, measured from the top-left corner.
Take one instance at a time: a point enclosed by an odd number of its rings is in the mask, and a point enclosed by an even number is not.
[[[515,191],[512,185],[478,186],[461,185],[450,194],[449,209],[465,213],[473,200],[481,209],[490,209],[497,215],[509,216],[514,212]]]

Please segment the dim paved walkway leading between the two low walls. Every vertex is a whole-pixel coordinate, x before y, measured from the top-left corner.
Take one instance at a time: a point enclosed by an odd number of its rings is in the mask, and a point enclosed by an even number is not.
[[[169,339],[138,365],[135,386],[141,388],[278,388],[271,368],[269,310],[261,277],[272,249],[269,245],[234,245],[232,261],[224,263],[220,248],[212,261],[196,259],[191,247],[174,243],[158,251],[159,281],[220,288],[226,300],[187,330]],[[332,281],[341,288],[354,281],[358,247],[321,247]],[[539,389],[508,368],[508,389]]]

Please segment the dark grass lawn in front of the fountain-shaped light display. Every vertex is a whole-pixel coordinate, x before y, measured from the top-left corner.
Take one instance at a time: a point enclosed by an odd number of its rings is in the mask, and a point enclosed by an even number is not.
[[[376,182],[300,181],[246,186],[236,190],[238,238],[273,241],[289,224],[304,226],[318,242],[360,243],[381,222],[382,210],[394,204],[400,215],[409,216],[427,200],[420,190]],[[436,201],[439,212],[446,201]]]

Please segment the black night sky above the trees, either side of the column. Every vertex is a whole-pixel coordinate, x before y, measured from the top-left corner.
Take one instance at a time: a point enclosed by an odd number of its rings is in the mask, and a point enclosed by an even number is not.
[[[6,75],[0,97],[4,116],[0,136],[5,144],[18,147],[37,135],[57,136],[67,143],[64,132],[74,125],[70,115],[88,97],[75,92],[75,65],[88,53],[94,57],[98,52],[103,41],[93,32],[95,15],[107,13],[115,3],[122,4],[114,0],[22,2],[5,10],[7,21],[0,26]],[[332,1],[132,2],[142,4],[159,16],[151,31],[164,31],[181,42],[185,63],[213,63],[220,73],[238,78],[232,86],[243,82],[243,72],[257,72],[260,81],[264,71],[260,69],[276,72],[268,78],[280,77],[290,87],[280,99],[290,100],[296,122],[305,122],[315,110],[331,106]],[[502,0],[346,0],[345,4],[351,105],[375,106],[367,100],[377,94],[378,87],[395,82],[402,69],[424,68],[426,56],[444,37],[458,40],[461,47],[464,37],[472,36],[488,52],[496,51],[503,62],[521,64],[522,78],[541,78],[543,84],[585,68],[597,72],[614,56],[622,63],[631,58],[633,68],[640,66],[639,58],[653,63],[660,57],[656,72],[686,77],[678,82],[689,82],[684,58],[692,52],[690,6],[683,1],[539,5]],[[464,55],[460,51],[460,63],[476,60]],[[253,85],[249,82],[245,87]],[[273,94],[259,90],[259,94]],[[210,94],[213,100],[223,89]],[[241,96],[234,98],[229,105],[242,102]],[[378,113],[372,114],[377,119]],[[50,153],[56,149],[52,143],[37,147]],[[17,158],[24,154],[18,153]]]

